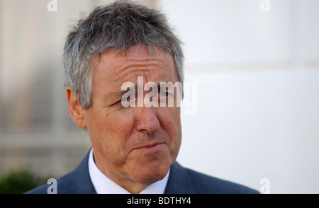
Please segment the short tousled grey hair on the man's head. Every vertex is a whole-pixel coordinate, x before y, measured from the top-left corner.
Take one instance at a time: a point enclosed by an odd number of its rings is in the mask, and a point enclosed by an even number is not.
[[[167,18],[159,11],[130,1],[98,6],[72,28],[65,42],[65,86],[77,95],[82,108],[92,105],[94,57],[108,49],[127,52],[134,45],[157,48],[173,56],[177,76],[184,81],[184,54]]]

